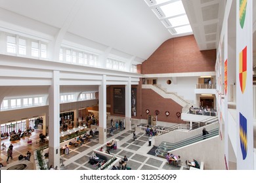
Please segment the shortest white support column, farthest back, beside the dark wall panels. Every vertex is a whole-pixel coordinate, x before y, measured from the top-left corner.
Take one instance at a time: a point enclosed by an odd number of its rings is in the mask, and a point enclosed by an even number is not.
[[[125,86],[125,129],[131,130],[131,78]]]

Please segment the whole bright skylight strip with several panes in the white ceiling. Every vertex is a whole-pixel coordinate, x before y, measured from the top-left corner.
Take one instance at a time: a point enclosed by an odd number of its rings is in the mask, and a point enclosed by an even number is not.
[[[188,16],[181,0],[144,0],[171,35],[192,33]]]

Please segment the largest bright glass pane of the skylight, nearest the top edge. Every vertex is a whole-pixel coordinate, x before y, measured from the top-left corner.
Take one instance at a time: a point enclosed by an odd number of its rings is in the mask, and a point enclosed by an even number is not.
[[[181,1],[176,1],[174,3],[169,3],[167,5],[163,5],[160,8],[163,11],[163,13],[165,14],[165,17],[176,16],[179,14],[186,13]]]

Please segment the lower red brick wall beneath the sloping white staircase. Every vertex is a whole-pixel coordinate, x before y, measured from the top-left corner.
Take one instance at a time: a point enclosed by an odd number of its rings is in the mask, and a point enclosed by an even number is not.
[[[146,109],[150,110],[151,115],[155,115],[155,111],[159,110],[158,121],[171,122],[181,124],[184,123],[177,118],[176,112],[181,112],[181,105],[175,103],[172,99],[164,99],[158,93],[150,89],[142,89],[142,119],[148,119]],[[165,111],[169,111],[169,116],[165,115]]]

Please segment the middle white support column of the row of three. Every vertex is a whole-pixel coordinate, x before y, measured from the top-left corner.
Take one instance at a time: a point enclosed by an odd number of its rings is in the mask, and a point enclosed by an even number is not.
[[[102,84],[98,86],[98,132],[99,143],[106,143],[106,75],[102,76]]]

